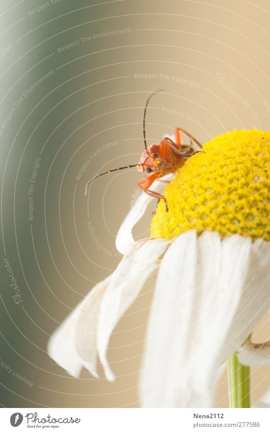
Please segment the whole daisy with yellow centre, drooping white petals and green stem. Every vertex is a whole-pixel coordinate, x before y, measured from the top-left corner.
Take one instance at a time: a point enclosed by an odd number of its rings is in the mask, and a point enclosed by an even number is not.
[[[207,142],[165,188],[151,238],[132,227],[153,200],[142,193],[119,229],[124,254],[51,336],[51,358],[78,377],[114,380],[107,348],[113,329],[157,274],[139,374],[141,407],[212,407],[228,365],[230,405],[249,407],[249,369],[269,365],[253,328],[270,308],[270,133],[232,131]],[[162,192],[162,181],[153,190]],[[229,360],[229,361],[228,361]]]

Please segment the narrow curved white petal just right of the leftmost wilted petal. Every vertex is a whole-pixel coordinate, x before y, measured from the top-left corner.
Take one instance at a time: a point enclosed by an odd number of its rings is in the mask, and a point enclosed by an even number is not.
[[[98,325],[98,351],[108,380],[114,380],[107,361],[107,347],[113,328],[137,297],[146,279],[159,266],[158,259],[169,241],[152,239],[137,244],[114,271],[101,304]]]

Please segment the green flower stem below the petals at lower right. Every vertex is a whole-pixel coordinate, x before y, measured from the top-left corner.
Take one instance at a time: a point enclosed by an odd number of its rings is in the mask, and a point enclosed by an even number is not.
[[[250,407],[250,367],[240,364],[236,353],[227,364],[229,407]]]

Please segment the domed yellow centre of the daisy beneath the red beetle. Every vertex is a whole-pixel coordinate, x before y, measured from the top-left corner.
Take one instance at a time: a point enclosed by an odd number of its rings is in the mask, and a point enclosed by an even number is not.
[[[232,131],[203,145],[166,187],[152,220],[153,238],[188,230],[270,240],[270,132]]]

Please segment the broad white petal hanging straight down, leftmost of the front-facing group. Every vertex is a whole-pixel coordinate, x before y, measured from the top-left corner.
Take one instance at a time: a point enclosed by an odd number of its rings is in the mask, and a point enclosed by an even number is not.
[[[143,355],[142,407],[175,407],[169,394],[175,386],[177,395],[179,379],[187,378],[181,364],[195,296],[196,236],[195,232],[179,236],[162,259]],[[184,384],[181,388],[189,392]]]

